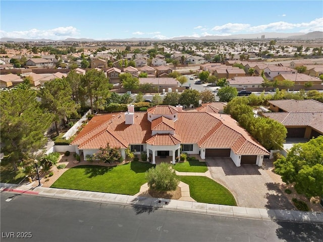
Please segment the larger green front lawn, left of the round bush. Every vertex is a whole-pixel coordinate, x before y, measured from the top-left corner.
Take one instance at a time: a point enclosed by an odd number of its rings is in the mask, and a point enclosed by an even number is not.
[[[150,163],[130,162],[113,167],[82,165],[68,169],[51,188],[135,195],[146,183]]]

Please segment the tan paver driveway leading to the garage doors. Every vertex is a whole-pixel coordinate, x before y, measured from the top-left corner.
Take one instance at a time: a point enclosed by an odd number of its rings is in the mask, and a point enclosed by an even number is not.
[[[214,180],[228,188],[237,205],[249,208],[294,209],[282,191],[279,176],[267,165],[241,165],[236,167],[231,158],[206,158],[210,174]],[[270,162],[264,160],[264,164]]]

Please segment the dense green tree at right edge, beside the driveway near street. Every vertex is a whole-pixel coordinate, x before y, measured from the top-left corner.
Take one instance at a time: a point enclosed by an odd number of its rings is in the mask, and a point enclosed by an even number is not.
[[[274,162],[275,172],[285,183],[295,183],[295,189],[307,197],[322,196],[323,136],[307,143],[295,144],[287,154]]]

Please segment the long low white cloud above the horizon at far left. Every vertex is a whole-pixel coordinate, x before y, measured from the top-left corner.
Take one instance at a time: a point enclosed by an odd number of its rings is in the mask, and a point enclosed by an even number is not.
[[[55,29],[48,30],[38,30],[38,29],[30,29],[25,31],[0,31],[1,37],[8,38],[26,38],[26,39],[65,39],[65,38],[76,38],[79,36],[78,30],[73,26],[68,27],[58,27]]]

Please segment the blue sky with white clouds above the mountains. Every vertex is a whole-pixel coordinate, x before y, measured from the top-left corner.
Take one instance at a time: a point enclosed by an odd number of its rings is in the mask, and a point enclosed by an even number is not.
[[[323,1],[0,1],[0,37],[166,39],[323,31]]]

